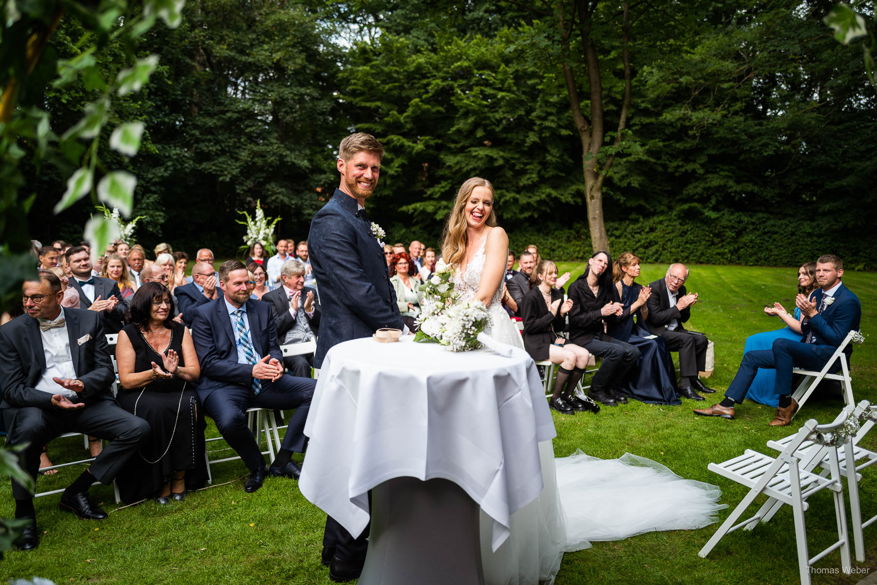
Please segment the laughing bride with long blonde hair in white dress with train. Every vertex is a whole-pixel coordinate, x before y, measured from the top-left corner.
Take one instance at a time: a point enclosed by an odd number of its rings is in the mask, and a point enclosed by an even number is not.
[[[488,308],[485,332],[524,349],[503,310],[509,237],[496,225],[493,185],[473,177],[462,184],[445,230],[442,258],[452,266],[460,300]],[[533,405],[548,408],[546,402]],[[564,552],[588,548],[591,540],[620,540],[646,531],[701,528],[716,522],[721,492],[684,480],[670,469],[625,453],[601,460],[576,452],[554,460],[552,441],[539,443],[542,493],[510,518],[511,533],[492,551],[491,520],[481,511],[481,560],[488,585],[551,583]],[[599,502],[599,505],[594,503]],[[642,505],[639,505],[642,503]]]

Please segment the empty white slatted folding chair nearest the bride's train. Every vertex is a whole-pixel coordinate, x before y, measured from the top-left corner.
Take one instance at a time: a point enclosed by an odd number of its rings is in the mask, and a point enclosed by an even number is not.
[[[788,442],[786,448],[776,459],[747,449],[744,454],[723,463],[710,463],[710,471],[745,485],[750,490],[707,544],[703,546],[698,555],[706,557],[725,534],[743,526],[754,527],[755,524],[764,521],[768,511],[766,505],[761,506],[755,516],[738,522],[746,509],[755,501],[755,498],[763,494],[768,498],[773,498],[777,503],[788,504],[792,507],[792,517],[795,520],[798,571],[802,585],[810,583],[810,566],[838,548],[840,549],[841,568],[845,574],[850,574],[852,561],[850,560],[849,533],[846,528],[844,488],[838,463],[836,432],[851,415],[851,410],[844,410],[831,424],[817,424],[816,420],[811,418],[801,427],[801,430],[795,433],[794,438]],[[800,452],[801,446],[807,440],[811,440],[814,445],[819,447],[812,449],[809,453],[802,453]],[[814,460],[816,458],[821,460],[823,455],[828,460],[829,477],[808,471],[808,468],[812,469],[816,465]],[[838,524],[838,540],[821,553],[816,554],[815,557],[809,558],[804,511],[809,508],[807,498],[823,489],[831,489],[832,492],[835,519]],[[770,509],[773,510],[773,506]]]

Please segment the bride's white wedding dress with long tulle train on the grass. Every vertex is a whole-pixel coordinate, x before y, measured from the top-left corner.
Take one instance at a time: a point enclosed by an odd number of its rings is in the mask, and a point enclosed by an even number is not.
[[[464,274],[454,271],[454,291],[471,300],[481,283],[487,238]],[[524,348],[497,289],[488,307],[490,337]],[[545,408],[547,404],[542,406]],[[552,441],[539,443],[542,493],[510,518],[508,539],[492,551],[492,520],[481,511],[481,562],[488,585],[552,583],[563,553],[591,546],[589,540],[621,540],[658,530],[702,528],[717,521],[722,495],[707,483],[685,480],[652,460],[624,453],[601,460],[577,451],[555,460]]]

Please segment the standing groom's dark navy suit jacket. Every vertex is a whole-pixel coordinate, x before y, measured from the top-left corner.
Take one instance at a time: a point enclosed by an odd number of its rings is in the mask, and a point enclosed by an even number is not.
[[[323,307],[314,367],[342,341],[403,328],[383,247],[356,199],[335,189],[310,222],[308,252]]]

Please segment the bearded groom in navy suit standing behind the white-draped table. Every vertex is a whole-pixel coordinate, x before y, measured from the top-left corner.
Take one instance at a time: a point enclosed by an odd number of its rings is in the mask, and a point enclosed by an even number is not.
[[[370,337],[381,327],[404,329],[389,282],[383,247],[372,231],[365,209],[381,174],[383,146],[364,132],[341,140],[339,188],[310,223],[310,265],[320,287],[323,320],[314,367],[326,352],[343,341]],[[323,564],[332,581],[360,576],[366,560],[368,527],[353,538],[332,517],[326,517]]]

